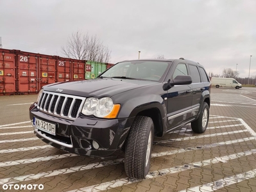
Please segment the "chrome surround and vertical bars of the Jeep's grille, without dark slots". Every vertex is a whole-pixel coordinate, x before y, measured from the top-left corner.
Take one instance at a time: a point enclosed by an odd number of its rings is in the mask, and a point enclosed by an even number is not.
[[[74,96],[74,95],[65,95],[63,93],[55,93],[55,92],[47,92],[47,91],[44,91],[43,93],[44,93],[44,94],[42,94],[43,97],[42,97],[42,95],[40,97],[40,99],[42,99],[42,100],[40,102],[40,105],[37,106],[37,109],[39,111],[42,111],[42,112],[47,113],[49,115],[58,116],[60,118],[65,118],[65,119],[68,119],[68,120],[75,120],[76,118],[78,118],[78,116],[81,113],[81,109],[83,108],[83,104],[85,103],[85,100],[86,100],[85,97],[78,97],[78,96]],[[51,100],[49,100],[50,95],[52,95]],[[55,99],[55,96],[58,97],[58,98],[56,99],[56,102],[54,104],[53,100]],[[64,97],[64,101],[63,101],[63,104],[60,108],[60,114],[58,114],[57,109],[58,109],[58,104],[60,102],[61,97]],[[69,111],[67,111],[67,115],[64,115],[67,100],[69,98],[71,98],[73,100],[72,100],[72,102],[69,106]],[[44,102],[44,100],[46,100],[46,101]],[[76,116],[73,117],[72,113],[73,113],[74,104],[76,103],[76,100],[81,100],[81,104],[80,104],[80,106],[76,106],[76,107],[79,107],[79,108],[78,108],[78,111],[76,113]],[[48,102],[49,102],[49,106],[48,106],[48,109],[46,109],[46,106],[47,106]],[[44,108],[42,108],[43,103],[44,103]],[[53,105],[54,105],[53,112],[51,112],[51,107]]]

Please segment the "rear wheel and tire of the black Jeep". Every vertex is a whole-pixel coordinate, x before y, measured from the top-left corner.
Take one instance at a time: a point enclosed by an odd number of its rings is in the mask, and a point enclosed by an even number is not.
[[[198,119],[191,122],[192,131],[196,133],[205,132],[208,122],[209,122],[209,106],[207,102],[203,102],[203,107],[201,108]]]

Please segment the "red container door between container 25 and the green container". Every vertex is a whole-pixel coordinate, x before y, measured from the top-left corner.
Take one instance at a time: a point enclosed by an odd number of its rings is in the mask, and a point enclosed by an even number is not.
[[[72,60],[71,63],[73,66],[73,81],[85,80],[85,61],[81,60]]]

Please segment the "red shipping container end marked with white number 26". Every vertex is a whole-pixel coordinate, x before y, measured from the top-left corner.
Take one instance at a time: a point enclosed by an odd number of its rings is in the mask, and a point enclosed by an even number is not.
[[[17,51],[17,94],[38,93],[38,56]]]

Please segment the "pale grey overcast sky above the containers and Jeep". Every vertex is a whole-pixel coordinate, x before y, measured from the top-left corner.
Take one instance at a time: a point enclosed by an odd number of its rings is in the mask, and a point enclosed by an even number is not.
[[[4,49],[64,56],[61,46],[82,31],[111,51],[110,63],[138,58],[199,62],[207,72],[224,68],[256,76],[255,0],[0,0]],[[238,65],[237,65],[238,64]]]

